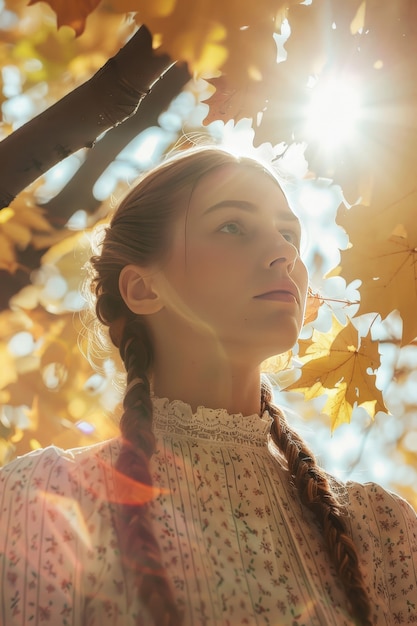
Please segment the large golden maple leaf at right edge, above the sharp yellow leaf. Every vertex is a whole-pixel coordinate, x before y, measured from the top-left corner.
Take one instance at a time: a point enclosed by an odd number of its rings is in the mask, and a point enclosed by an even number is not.
[[[388,207],[356,206],[340,213],[351,247],[342,252],[347,282],[359,278],[359,313],[384,319],[397,310],[403,320],[402,343],[417,337],[417,191]]]

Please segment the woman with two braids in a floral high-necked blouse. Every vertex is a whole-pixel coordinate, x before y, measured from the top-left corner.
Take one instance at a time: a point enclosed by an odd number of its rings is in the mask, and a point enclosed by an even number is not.
[[[218,149],[121,203],[91,261],[121,438],[0,473],[2,624],[417,622],[415,513],[330,485],[261,380],[302,327],[300,237],[273,173]]]

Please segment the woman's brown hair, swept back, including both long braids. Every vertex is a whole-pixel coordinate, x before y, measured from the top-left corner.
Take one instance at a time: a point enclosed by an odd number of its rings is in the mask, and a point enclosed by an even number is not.
[[[155,168],[121,202],[105,231],[100,253],[91,259],[97,322],[91,331],[93,336],[102,335],[99,326],[108,327],[110,340],[119,350],[127,373],[120,421],[123,444],[116,465],[116,476],[125,477],[120,480],[123,494],[126,484],[131,491],[132,484],[139,485],[139,489],[133,489],[137,494],[143,495],[143,489],[151,493],[149,461],[155,450],[155,437],[148,378],[152,367],[152,340],[146,319],[130,311],[121,296],[120,273],[129,264],[146,267],[163,261],[169,253],[170,225],[181,210],[186,210],[198,180],[216,168],[241,162],[266,169],[257,161],[207,147],[187,151]],[[302,439],[285,423],[266,388],[262,402],[273,417],[271,437],[287,458],[301,502],[315,513],[321,524],[352,614],[362,626],[369,626],[369,600],[342,508],[324,472]],[[132,497],[127,494],[118,506],[118,534],[124,566],[133,572],[135,588],[154,623],[179,626],[181,615],[163,567],[147,499],[149,495]]]

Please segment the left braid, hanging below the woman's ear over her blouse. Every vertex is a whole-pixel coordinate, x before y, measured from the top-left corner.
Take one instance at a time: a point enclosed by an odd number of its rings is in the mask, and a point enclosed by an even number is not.
[[[134,484],[152,485],[149,460],[155,450],[152,432],[152,403],[146,372],[150,365],[151,346],[148,333],[138,318],[124,324],[119,345],[127,371],[124,413],[120,421],[123,445],[116,473]],[[129,482],[129,481],[127,481]],[[126,491],[121,479],[119,493]],[[134,573],[135,587],[154,619],[156,626],[179,626],[181,619],[168,583],[149,509],[143,498],[123,498],[120,504],[119,536],[124,563]]]

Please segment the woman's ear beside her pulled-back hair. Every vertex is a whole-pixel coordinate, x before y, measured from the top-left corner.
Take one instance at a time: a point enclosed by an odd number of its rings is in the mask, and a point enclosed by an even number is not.
[[[120,272],[119,290],[126,306],[133,313],[149,315],[163,308],[149,267],[126,265]]]

